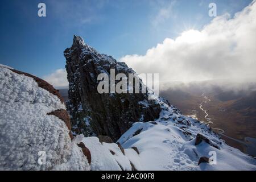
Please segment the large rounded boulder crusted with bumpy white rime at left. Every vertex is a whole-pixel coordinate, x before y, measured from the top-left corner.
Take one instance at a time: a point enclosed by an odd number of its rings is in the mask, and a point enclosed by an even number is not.
[[[24,74],[0,65],[0,170],[90,169],[76,140],[71,141],[68,123],[60,119],[65,105],[55,90]],[[40,151],[46,152],[45,165],[38,163]]]

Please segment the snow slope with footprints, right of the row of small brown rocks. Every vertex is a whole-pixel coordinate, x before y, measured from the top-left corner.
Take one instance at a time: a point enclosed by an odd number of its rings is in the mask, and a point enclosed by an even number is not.
[[[159,119],[134,123],[118,140],[123,148],[138,148],[141,169],[256,170],[254,158],[228,146],[208,126],[163,102],[162,109]],[[201,157],[204,161],[214,153],[216,164],[199,164]]]

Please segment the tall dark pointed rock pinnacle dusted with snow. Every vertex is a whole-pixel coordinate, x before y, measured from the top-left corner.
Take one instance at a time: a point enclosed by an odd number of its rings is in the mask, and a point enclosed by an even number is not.
[[[124,73],[127,78],[129,73],[135,73],[125,63],[98,53],[86,45],[80,36],[74,36],[73,45],[64,51],[64,56],[69,81],[67,107],[73,133],[106,135],[115,141],[134,122],[159,118],[160,105],[148,100],[148,93],[98,93],[100,81],[97,77],[100,73],[110,77],[110,69],[114,69],[115,75]]]

